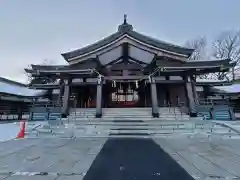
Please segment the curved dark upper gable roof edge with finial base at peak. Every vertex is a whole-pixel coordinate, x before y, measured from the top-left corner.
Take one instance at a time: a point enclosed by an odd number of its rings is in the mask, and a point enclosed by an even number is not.
[[[117,40],[120,40],[121,38],[124,38],[126,36],[131,37],[137,41],[143,42],[145,44],[148,44],[154,48],[161,49],[163,51],[174,52],[174,53],[186,55],[187,57],[189,57],[193,52],[193,49],[166,43],[164,41],[160,41],[155,38],[138,33],[133,30],[132,25],[130,25],[126,21],[124,21],[124,23],[119,26],[118,31],[116,33],[113,33],[110,36],[108,36],[94,44],[91,44],[87,47],[63,53],[62,56],[64,57],[65,60],[71,61],[72,58],[82,56],[86,53],[95,51],[101,47],[107,46],[108,44],[111,44],[111,43],[113,43]]]

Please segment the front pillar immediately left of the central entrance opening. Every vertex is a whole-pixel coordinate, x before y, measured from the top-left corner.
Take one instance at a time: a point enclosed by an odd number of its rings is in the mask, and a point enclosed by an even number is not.
[[[96,102],[96,118],[102,117],[102,77],[97,80],[97,102]]]

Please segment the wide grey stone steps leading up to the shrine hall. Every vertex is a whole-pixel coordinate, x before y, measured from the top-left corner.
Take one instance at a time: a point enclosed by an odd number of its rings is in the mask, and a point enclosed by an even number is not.
[[[177,108],[160,108],[159,118],[152,118],[151,108],[103,109],[102,118],[95,118],[95,109],[71,109],[68,123],[76,137],[166,137],[196,133],[232,136],[229,128],[211,121],[192,119]],[[234,134],[236,135],[236,134]]]

